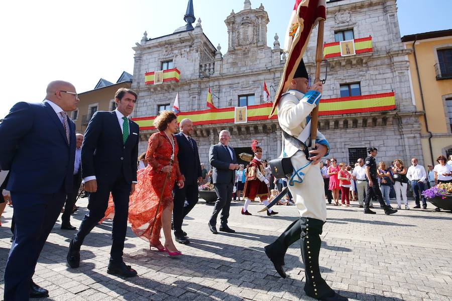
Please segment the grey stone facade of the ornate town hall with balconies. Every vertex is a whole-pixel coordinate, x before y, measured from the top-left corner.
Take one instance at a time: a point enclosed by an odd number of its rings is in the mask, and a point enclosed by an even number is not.
[[[394,91],[396,109],[392,111],[327,115],[319,118],[319,128],[338,161],[356,160],[363,149],[379,149],[379,160],[387,162],[401,157],[407,161],[417,156],[422,162],[418,113],[413,105],[407,54],[400,40],[395,0],[342,0],[327,3],[324,42],[334,42],[335,35],[353,31],[354,39],[372,36],[372,49],[353,56],[329,58],[328,75],[322,98],[337,98],[345,85],[358,83],[360,93],[377,94]],[[172,107],[179,93],[183,112],[206,110],[207,89],[214,94],[217,108],[259,105],[264,103],[263,79],[267,86],[277,87],[285,56],[275,35],[273,47],[267,41],[270,22],[264,7],[252,9],[250,0],[238,13],[226,17],[229,45],[224,54],[205,36],[198,19],[196,25],[189,1],[184,20],[187,25],[173,34],[148,38],[145,32],[135,50],[132,88],[139,94],[134,117],[156,116],[160,109]],[[289,13],[289,12],[288,12]],[[281,16],[280,20],[288,20]],[[314,29],[304,60],[314,72],[317,32]],[[145,73],[177,68],[180,80],[146,84]],[[322,64],[322,70],[325,63]],[[274,91],[272,90],[272,96]],[[338,98],[340,102],[342,98]],[[228,129],[231,145],[237,152],[248,149],[251,139],[260,141],[264,158],[275,158],[281,152],[281,132],[277,120],[248,121],[246,124],[204,124],[195,127],[194,138],[200,149],[201,162],[208,164],[208,148],[218,141],[218,132]],[[140,150],[155,130],[142,130]],[[354,163],[354,162],[352,162]]]

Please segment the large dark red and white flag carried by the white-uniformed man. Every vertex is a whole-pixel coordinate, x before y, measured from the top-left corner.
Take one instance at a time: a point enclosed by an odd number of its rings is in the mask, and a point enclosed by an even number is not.
[[[289,87],[293,79],[293,75],[309,42],[312,28],[322,19],[326,20],[325,0],[295,1],[289,27],[287,28],[286,40],[284,41],[284,51],[288,52],[288,57],[269,117],[274,114],[281,95]]]

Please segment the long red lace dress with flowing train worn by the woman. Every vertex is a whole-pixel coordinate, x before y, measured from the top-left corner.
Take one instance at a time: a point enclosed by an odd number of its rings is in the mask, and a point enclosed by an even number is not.
[[[146,168],[137,172],[138,183],[129,201],[129,222],[132,224],[132,231],[138,237],[149,241],[152,245],[160,244],[162,212],[173,202],[172,191],[176,180],[183,179],[179,169],[179,162],[177,161],[177,141],[174,136],[171,136],[171,138],[174,141],[174,161],[169,177],[165,181],[168,174],[161,172],[161,169],[169,165],[173,151],[168,137],[165,132],[161,131],[152,134],[149,138],[149,146],[146,152],[146,160],[149,164]],[[113,212],[114,205],[110,196],[105,218],[112,218]],[[154,223],[154,229],[151,233]]]

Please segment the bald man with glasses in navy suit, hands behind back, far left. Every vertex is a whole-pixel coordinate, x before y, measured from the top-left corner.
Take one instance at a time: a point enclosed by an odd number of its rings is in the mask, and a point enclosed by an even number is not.
[[[75,87],[52,81],[44,102],[17,103],[0,124],[0,168],[10,170],[14,240],[5,268],[5,300],[45,297],[32,276],[39,254],[72,190],[75,125],[66,112],[77,108]]]

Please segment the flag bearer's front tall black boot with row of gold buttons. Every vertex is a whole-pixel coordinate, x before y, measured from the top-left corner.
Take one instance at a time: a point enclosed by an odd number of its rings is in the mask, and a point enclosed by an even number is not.
[[[300,218],[301,256],[304,262],[304,291],[310,297],[324,301],[347,301],[348,298],[336,293],[320,274],[318,255],[320,252],[320,234],[323,221],[312,218]]]

